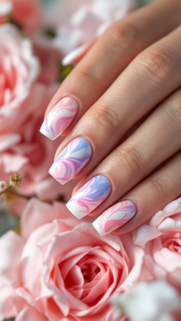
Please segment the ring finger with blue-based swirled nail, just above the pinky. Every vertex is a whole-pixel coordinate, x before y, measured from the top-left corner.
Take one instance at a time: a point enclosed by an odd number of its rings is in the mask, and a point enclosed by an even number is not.
[[[181,89],[78,184],[66,204],[71,213],[77,218],[100,215],[180,150],[180,101]]]

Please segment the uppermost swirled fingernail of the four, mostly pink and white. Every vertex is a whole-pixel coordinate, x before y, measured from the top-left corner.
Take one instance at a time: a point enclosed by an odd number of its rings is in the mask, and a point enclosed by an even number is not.
[[[71,97],[62,98],[43,121],[40,133],[56,139],[71,124],[78,111],[78,103]]]

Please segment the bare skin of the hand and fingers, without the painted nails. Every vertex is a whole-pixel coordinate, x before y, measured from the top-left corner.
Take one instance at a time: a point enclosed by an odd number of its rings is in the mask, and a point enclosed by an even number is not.
[[[181,195],[180,0],[152,3],[112,25],[61,84],[45,117],[66,96],[79,111],[55,158],[76,137],[93,150],[73,194],[96,175],[111,183],[89,215],[132,201],[135,217],[112,232],[123,234]]]

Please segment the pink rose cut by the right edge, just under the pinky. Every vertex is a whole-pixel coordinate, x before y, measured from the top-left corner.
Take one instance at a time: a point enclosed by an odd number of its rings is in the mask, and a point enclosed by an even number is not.
[[[163,279],[181,289],[181,198],[137,229],[134,244],[145,247],[149,278]]]

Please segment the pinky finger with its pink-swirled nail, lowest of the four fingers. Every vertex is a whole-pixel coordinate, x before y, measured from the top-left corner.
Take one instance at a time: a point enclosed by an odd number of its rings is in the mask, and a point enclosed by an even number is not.
[[[147,222],[181,195],[181,151],[144,179],[92,224],[100,236],[124,234]]]

